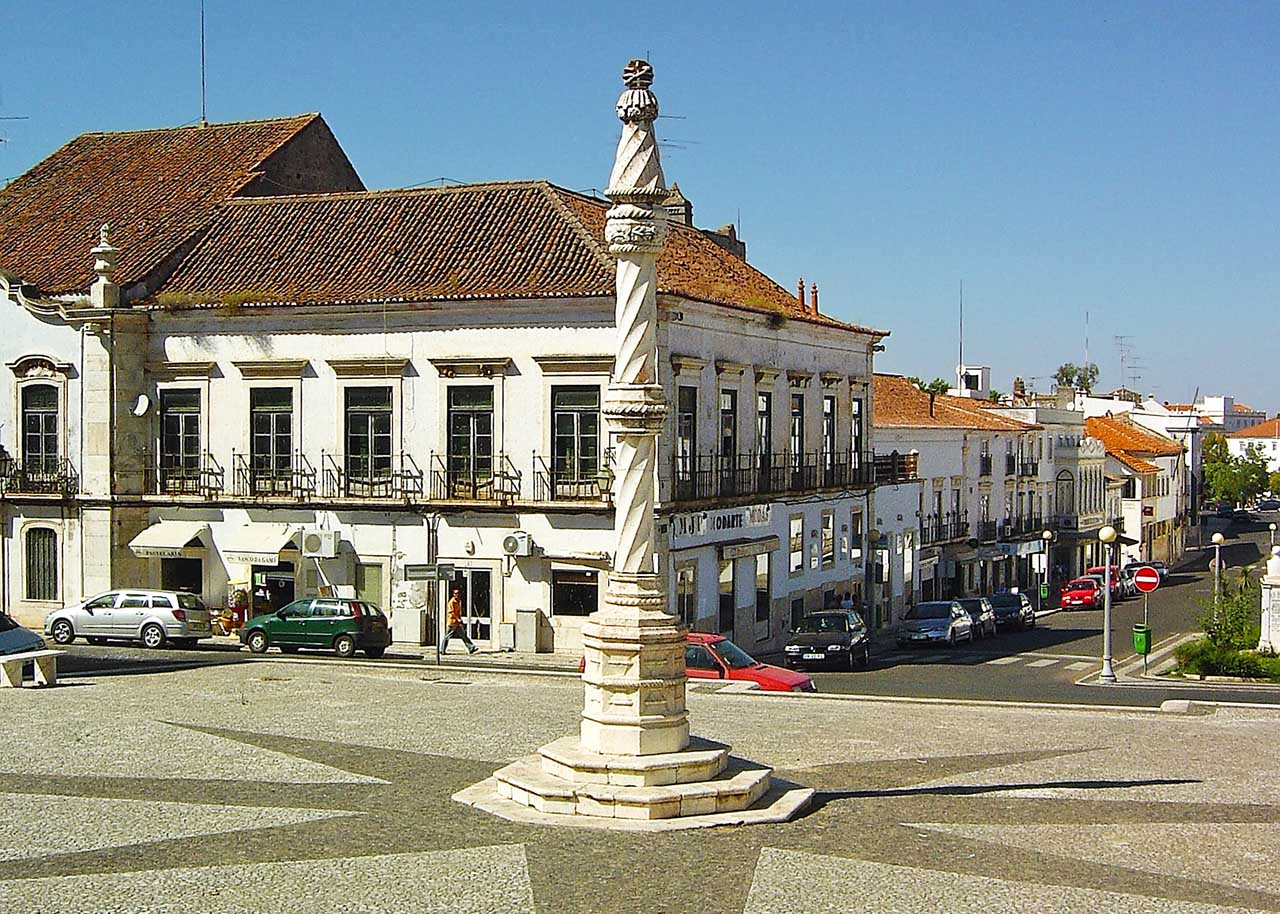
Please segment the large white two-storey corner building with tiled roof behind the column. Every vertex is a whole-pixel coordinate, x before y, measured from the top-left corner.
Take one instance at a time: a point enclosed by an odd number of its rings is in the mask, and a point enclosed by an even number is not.
[[[458,589],[474,639],[577,649],[613,541],[607,202],[544,182],[334,191],[219,198],[118,307],[10,280],[6,324],[29,328],[20,349],[4,343],[14,383],[61,371],[59,403],[84,401],[58,413],[65,490],[38,507],[101,513],[96,539],[55,525],[56,588],[28,599],[22,568],[45,553],[19,512],[44,497],[19,508],[22,486],[6,486],[5,594],[27,621],[123,584],[250,612],[334,593],[429,643],[433,608]],[[92,218],[116,225],[123,268],[127,223]],[[59,256],[92,277],[92,242]],[[24,278],[4,247],[0,265]],[[671,605],[772,650],[799,613],[863,599],[886,334],[826,316],[815,289],[791,296],[678,220],[658,269]],[[35,421],[22,396],[10,388]],[[81,431],[79,415],[109,420]],[[29,448],[5,439],[26,467]],[[451,566],[447,580],[407,580],[422,565]]]

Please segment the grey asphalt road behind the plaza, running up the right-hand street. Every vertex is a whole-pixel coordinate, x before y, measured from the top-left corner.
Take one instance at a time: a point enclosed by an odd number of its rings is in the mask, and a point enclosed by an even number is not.
[[[1234,524],[1224,545],[1226,567],[1260,561],[1268,544],[1261,524]],[[1207,539],[1207,534],[1206,534]],[[1198,631],[1197,620],[1212,597],[1208,561],[1212,548],[1192,552],[1190,561],[1149,597],[1148,623],[1155,650]],[[1132,627],[1143,621],[1140,597],[1123,600],[1112,611],[1112,655],[1117,671],[1140,672],[1133,653]],[[1051,702],[1156,707],[1166,699],[1280,704],[1280,686],[1198,686],[1192,682],[1149,684],[1125,681],[1117,686],[1097,682],[1102,655],[1102,611],[1059,612],[1039,620],[1029,631],[1001,632],[996,639],[961,645],[955,650],[899,649],[892,639],[877,645],[870,669],[854,672],[812,671],[819,691],[901,698],[938,698],[1001,702]],[[291,661],[274,652],[273,661]],[[303,661],[307,654],[301,655]],[[323,654],[310,654],[311,658]],[[187,666],[252,663],[257,658],[234,645],[205,644],[193,650],[146,650],[141,645],[88,645],[77,640],[59,664],[64,676],[92,672],[146,673]],[[404,663],[403,658],[358,659],[355,663]],[[425,667],[434,664],[422,662]]]

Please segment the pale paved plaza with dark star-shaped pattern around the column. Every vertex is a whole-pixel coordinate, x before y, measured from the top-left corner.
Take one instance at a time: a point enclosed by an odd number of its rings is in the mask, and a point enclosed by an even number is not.
[[[0,696],[0,911],[1280,911],[1280,713],[717,693],[795,822],[516,824],[451,800],[577,726],[535,676],[253,663]]]

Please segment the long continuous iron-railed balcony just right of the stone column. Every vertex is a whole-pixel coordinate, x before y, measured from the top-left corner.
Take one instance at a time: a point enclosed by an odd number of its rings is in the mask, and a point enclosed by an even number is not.
[[[874,474],[872,456],[856,451],[677,456],[671,498],[696,502],[865,486]]]

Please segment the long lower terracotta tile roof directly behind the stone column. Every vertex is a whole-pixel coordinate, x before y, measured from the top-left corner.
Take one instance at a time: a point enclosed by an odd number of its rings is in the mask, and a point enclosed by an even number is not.
[[[166,306],[614,294],[608,204],[541,180],[232,200],[160,289]],[[883,334],[799,309],[777,283],[672,224],[663,292]]]

